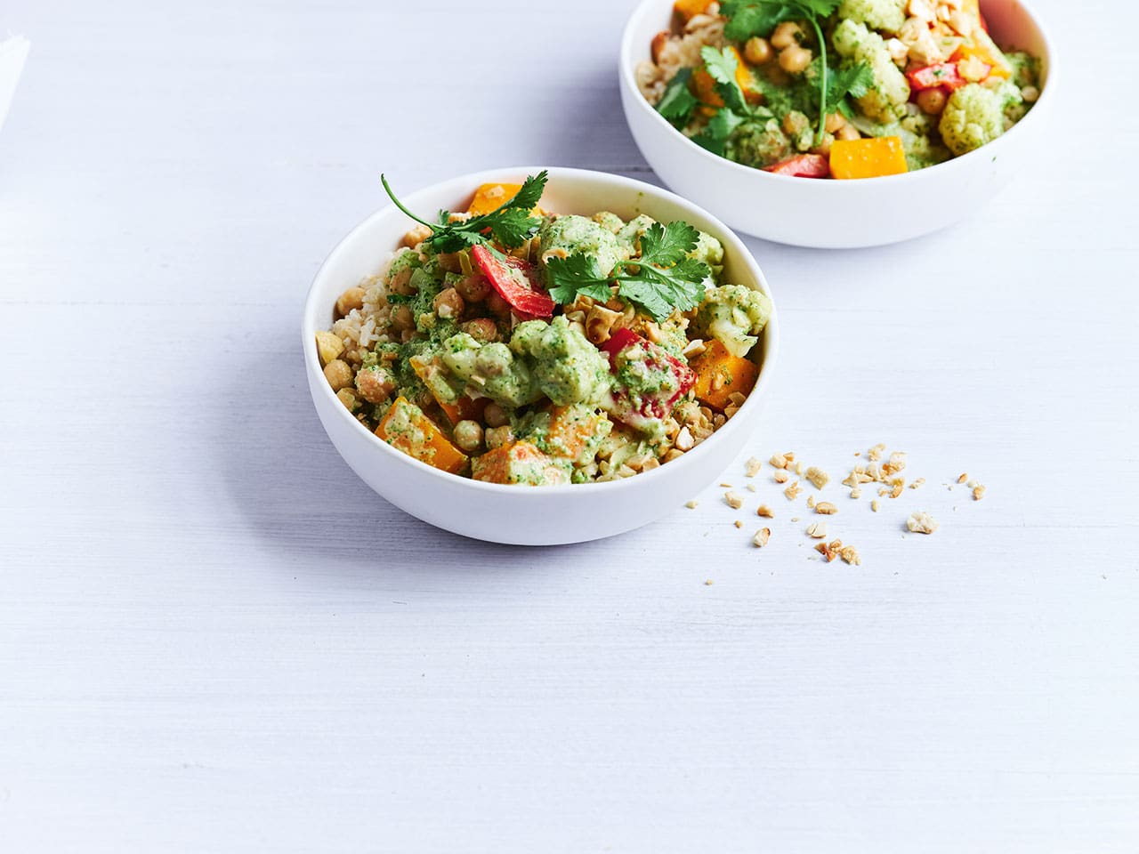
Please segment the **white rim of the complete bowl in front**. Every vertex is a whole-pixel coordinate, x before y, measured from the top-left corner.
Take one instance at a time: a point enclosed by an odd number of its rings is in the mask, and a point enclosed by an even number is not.
[[[671,192],[669,190],[656,187],[654,184],[634,180],[632,178],[624,178],[623,175],[614,175],[607,172],[597,172],[595,170],[570,169],[565,166],[505,166],[500,169],[485,170],[483,172],[477,172],[474,174],[460,175],[449,181],[442,181],[440,183],[432,184],[431,187],[423,188],[420,190],[417,190],[416,192],[412,192],[401,198],[401,202],[409,210],[413,211],[416,210],[416,203],[420,197],[449,191],[451,187],[454,188],[454,191],[458,196],[458,194],[461,192],[467,192],[467,194],[473,192],[474,188],[478,187],[478,184],[500,180],[503,174],[532,175],[536,174],[543,169],[549,171],[551,182],[557,181],[559,178],[574,178],[574,176],[601,178],[607,182],[636,189],[642,192],[646,199],[650,199],[654,196],[663,197],[665,199],[672,200],[674,204],[681,207],[699,212],[699,214],[706,217],[707,221],[711,223],[713,236],[720,239],[720,241],[724,246],[724,251],[737,253],[740,256],[743,264],[751,269],[751,272],[754,274],[756,281],[763,285],[765,288],[768,288],[768,296],[771,296],[770,286],[768,286],[767,279],[763,276],[762,270],[755,262],[751,252],[748,252],[747,247],[744,246],[743,241],[739,239],[739,237],[736,236],[736,233],[731,229],[724,225],[718,217],[713,216],[707,211],[704,211],[703,208],[685,199],[683,197],[678,196],[677,194]],[[604,204],[604,202],[599,204]],[[313,279],[313,284],[309,289],[309,295],[305,298],[304,319],[301,325],[301,337],[302,337],[302,346],[304,348],[304,361],[306,368],[310,371],[316,370],[318,373],[320,372],[320,364],[317,361],[317,348],[313,346],[312,342],[317,331],[319,331],[320,329],[328,328],[328,323],[319,319],[322,318],[327,313],[326,310],[330,307],[319,298],[320,294],[318,293],[319,291],[319,288],[317,287],[318,284],[325,277],[326,271],[335,264],[337,256],[341,253],[347,252],[347,247],[354,241],[359,232],[367,230],[367,228],[375,220],[388,216],[395,210],[396,208],[394,205],[386,205],[385,207],[382,207],[380,210],[372,213],[359,225],[353,228],[352,231],[350,231],[344,237],[344,239],[342,239],[336,245],[336,248],[333,249],[331,253],[329,253],[328,257],[325,258],[325,262],[320,265],[320,269],[317,271],[317,274]],[[598,210],[604,210],[604,207],[599,207]],[[355,282],[345,282],[344,287],[345,288],[351,287],[351,285],[353,284]],[[772,307],[771,318],[768,320],[768,325],[764,328],[763,335],[760,338],[760,345],[763,346],[763,348],[767,352],[764,354],[763,361],[760,363],[760,373],[755,380],[755,386],[747,395],[747,400],[744,401],[743,407],[740,407],[740,412],[751,407],[759,405],[760,395],[768,385],[769,378],[771,376],[771,369],[776,360],[776,353],[778,352],[778,343],[779,343],[779,320],[775,307]],[[347,409],[344,408],[344,404],[336,399],[336,395],[333,393],[331,386],[329,386],[328,383],[321,383],[320,387],[321,387],[320,394],[325,395],[326,399],[330,399],[330,402],[335,404],[336,411],[341,413],[341,416],[344,419],[351,421],[357,429],[359,429],[361,433],[368,436],[372,446],[376,447],[376,452],[391,454],[398,465],[409,466],[412,469],[418,469],[419,473],[423,475],[442,479],[453,485],[461,484],[466,487],[481,490],[489,494],[517,493],[519,488],[526,488],[510,484],[493,484],[483,481],[475,481],[469,477],[462,477],[460,475],[452,475],[448,471],[442,471],[441,469],[437,469],[434,466],[428,466],[426,462],[421,462],[420,460],[417,460],[413,457],[410,457],[403,453],[402,451],[392,447],[382,438],[376,436],[371,430],[369,430],[367,427],[360,424],[360,421],[353,418],[352,414],[347,411]],[[734,418],[729,419],[727,424],[724,424],[722,427],[715,430],[715,433],[713,433],[712,436],[705,440],[705,442],[702,442],[693,450],[687,451],[680,459],[669,462],[667,467],[670,467],[670,469],[674,471],[675,470],[674,467],[677,466],[697,465],[702,459],[702,451],[706,451],[705,444],[707,444],[708,442],[716,441],[718,437],[722,437],[727,433],[735,432],[732,429],[734,426],[738,427],[739,429],[743,429],[740,425],[743,425],[745,420],[746,419],[739,419],[739,424],[735,424],[736,419]],[[652,469],[649,471],[641,471],[631,477],[625,477],[617,481],[605,481],[601,483],[584,483],[584,484],[559,484],[559,485],[539,486],[532,488],[540,488],[543,494],[568,492],[574,495],[585,495],[596,493],[598,491],[612,493],[617,490],[645,488],[648,485],[648,483],[650,483],[649,478],[661,477],[664,475],[664,473],[665,473],[665,466],[659,466],[656,469]]]

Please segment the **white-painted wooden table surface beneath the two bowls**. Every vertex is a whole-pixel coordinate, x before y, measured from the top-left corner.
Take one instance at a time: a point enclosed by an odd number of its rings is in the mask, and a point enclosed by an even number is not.
[[[927,479],[828,487],[849,567],[770,470],[762,551],[714,485],[611,541],[461,540],[314,417],[301,302],[382,170],[655,180],[630,0],[6,3],[0,849],[1139,849],[1139,20],[1036,5],[1062,115],[995,203],[751,241],[785,347],[749,452]]]

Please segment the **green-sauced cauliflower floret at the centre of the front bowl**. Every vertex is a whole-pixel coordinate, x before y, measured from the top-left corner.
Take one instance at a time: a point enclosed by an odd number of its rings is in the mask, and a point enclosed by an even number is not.
[[[510,350],[530,356],[542,394],[559,407],[591,403],[609,391],[609,360],[564,315],[515,327]]]

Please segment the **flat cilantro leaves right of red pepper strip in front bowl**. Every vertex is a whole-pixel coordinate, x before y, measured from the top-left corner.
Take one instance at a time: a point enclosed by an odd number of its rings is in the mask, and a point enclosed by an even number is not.
[[[699,240],[699,231],[687,222],[654,222],[641,235],[639,258],[618,261],[605,276],[597,258],[575,252],[564,258],[551,257],[546,264],[549,291],[563,305],[579,294],[597,302],[608,302],[612,285],[626,303],[644,309],[657,322],[677,309],[688,311],[704,298],[704,282],[712,274],[703,261],[689,257]]]

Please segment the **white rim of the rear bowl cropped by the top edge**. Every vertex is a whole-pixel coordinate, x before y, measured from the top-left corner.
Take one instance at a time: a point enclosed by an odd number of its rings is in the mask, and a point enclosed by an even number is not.
[[[982,3],[983,2],[984,2],[984,0],[982,0]],[[621,68],[620,68],[620,73],[624,77],[625,84],[629,85],[632,91],[637,92],[637,95],[638,95],[637,101],[638,101],[640,108],[642,110],[652,113],[653,114],[653,121],[657,122],[659,125],[662,125],[666,130],[671,131],[672,133],[675,133],[678,137],[681,137],[688,146],[690,146],[695,151],[697,151],[700,157],[704,157],[707,161],[715,162],[715,163],[720,164],[721,166],[724,166],[724,167],[734,170],[734,171],[738,171],[743,175],[755,175],[755,174],[763,175],[764,179],[761,179],[761,180],[768,180],[768,179],[770,179],[772,181],[795,181],[796,183],[802,183],[804,181],[804,179],[802,179],[802,178],[795,178],[793,175],[779,175],[779,174],[776,174],[773,172],[764,172],[763,170],[756,169],[755,166],[748,166],[748,165],[745,165],[743,163],[737,163],[736,161],[729,161],[727,157],[721,157],[721,156],[719,156],[716,154],[712,154],[712,151],[707,150],[703,146],[697,145],[696,142],[693,142],[691,139],[689,139],[687,136],[685,136],[683,133],[681,133],[680,131],[678,131],[675,128],[673,128],[672,123],[669,122],[659,113],[657,113],[656,108],[652,104],[648,102],[648,99],[646,99],[644,95],[641,95],[640,87],[637,85],[637,73],[636,73],[637,72],[637,67],[636,67],[636,63],[632,59],[632,57],[634,56],[634,50],[637,49],[637,46],[633,44],[633,39],[636,36],[636,30],[637,30],[636,24],[640,23],[640,19],[645,15],[649,14],[650,10],[654,10],[657,6],[661,6],[661,5],[662,5],[661,0],[641,0],[640,5],[636,9],[633,9],[632,15],[629,16],[629,19],[625,23],[624,32],[621,35]],[[1024,10],[1025,15],[1027,15],[1029,18],[1031,18],[1036,24],[1036,28],[1040,30],[1041,40],[1044,43],[1044,56],[1038,57],[1038,58],[1041,59],[1042,61],[1044,61],[1046,65],[1047,65],[1047,76],[1048,76],[1048,80],[1047,80],[1047,82],[1044,83],[1044,85],[1040,90],[1040,98],[1038,99],[1036,105],[1039,105],[1040,101],[1042,101],[1044,98],[1048,98],[1049,99],[1048,102],[1050,104],[1051,102],[1051,98],[1052,98],[1052,96],[1050,95],[1051,90],[1056,88],[1056,82],[1055,82],[1056,81],[1056,54],[1055,54],[1055,51],[1052,51],[1051,41],[1048,39],[1048,30],[1044,26],[1042,26],[1041,23],[1040,23],[1040,16],[1038,14],[1033,13],[1031,9],[1029,9],[1027,6],[1025,6],[1023,2],[1018,3],[1018,6],[1021,6],[1021,8]],[[1023,125],[1025,122],[1029,122],[1029,121],[1033,120],[1033,115],[1036,113],[1036,108],[1035,108],[1036,105],[1034,105],[1033,108],[1030,109],[1029,113],[1019,122],[1017,122],[1016,124],[1014,124],[1011,128],[1009,128],[1005,133],[1002,133],[1000,137],[998,137],[997,139],[994,139],[992,142],[988,142],[988,143],[981,146],[981,148],[975,148],[974,150],[968,151],[966,154],[962,154],[962,155],[960,155],[958,157],[952,157],[952,158],[945,161],[944,163],[939,163],[939,164],[936,164],[934,166],[927,166],[926,169],[917,170],[915,172],[904,172],[904,173],[898,174],[898,175],[882,175],[882,176],[878,176],[878,178],[862,179],[862,181],[870,180],[870,181],[883,182],[883,183],[886,182],[886,181],[891,181],[891,182],[894,182],[894,183],[899,183],[899,182],[902,182],[902,181],[912,181],[915,175],[920,175],[921,173],[928,172],[929,170],[940,170],[940,171],[944,172],[947,169],[952,169],[954,164],[961,164],[961,163],[969,164],[969,163],[978,159],[980,157],[983,157],[983,156],[993,156],[993,151],[994,150],[997,150],[997,151],[1000,150],[999,147],[1001,147],[1001,140],[1003,140],[1009,134],[1015,133],[1021,128],[1021,125]],[[994,146],[997,146],[998,148],[994,149],[993,148]],[[961,169],[967,169],[967,166],[961,166]],[[826,186],[829,186],[829,184],[837,184],[837,186],[841,187],[843,184],[853,183],[853,182],[852,181],[819,181],[819,180],[814,180],[814,181],[811,181],[811,183],[816,184],[816,186],[819,186],[819,187],[826,187]],[[821,190],[821,191],[822,192],[827,192],[827,190]],[[834,191],[842,192],[843,190],[836,189],[836,190],[831,190],[831,191],[833,192]]]

